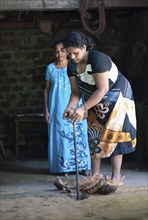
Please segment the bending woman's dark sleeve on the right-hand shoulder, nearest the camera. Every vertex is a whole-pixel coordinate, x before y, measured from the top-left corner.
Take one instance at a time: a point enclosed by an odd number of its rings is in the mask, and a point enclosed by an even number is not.
[[[93,73],[103,73],[110,71],[112,61],[110,57],[99,51],[92,51],[90,53],[90,63]]]

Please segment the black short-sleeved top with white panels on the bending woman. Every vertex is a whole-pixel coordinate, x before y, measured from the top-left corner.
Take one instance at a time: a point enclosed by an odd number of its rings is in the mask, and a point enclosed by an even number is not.
[[[77,64],[70,60],[67,68],[68,76],[76,76],[80,89],[89,94],[92,94],[96,90],[93,74],[100,74],[108,71],[110,88],[115,84],[119,74],[111,58],[96,50],[89,50],[87,66],[84,73],[78,74],[76,69]]]

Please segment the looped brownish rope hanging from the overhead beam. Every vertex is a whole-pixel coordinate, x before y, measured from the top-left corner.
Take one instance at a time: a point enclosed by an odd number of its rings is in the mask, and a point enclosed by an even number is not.
[[[87,12],[88,9],[88,1],[87,0],[79,0],[80,6],[79,6],[79,12],[81,15],[81,21],[83,24],[84,29],[90,33],[93,36],[96,36],[99,38],[101,33],[105,29],[106,25],[106,18],[105,18],[105,7],[104,7],[104,0],[98,0],[98,13],[99,13],[99,27],[97,30],[92,30],[89,27],[89,20],[90,20],[90,14]]]

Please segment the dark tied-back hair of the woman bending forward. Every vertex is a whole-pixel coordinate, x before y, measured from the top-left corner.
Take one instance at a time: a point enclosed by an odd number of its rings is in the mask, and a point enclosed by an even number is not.
[[[72,31],[67,34],[64,40],[64,47],[78,47],[86,46],[86,50],[94,47],[93,40],[85,36],[82,32]]]

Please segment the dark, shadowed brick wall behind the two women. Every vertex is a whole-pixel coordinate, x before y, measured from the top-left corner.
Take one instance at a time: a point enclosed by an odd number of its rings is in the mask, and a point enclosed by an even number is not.
[[[93,19],[98,20],[97,12],[91,13]],[[0,19],[0,136],[4,146],[14,151],[12,136],[15,134],[10,135],[9,123],[5,118],[17,114],[43,113],[45,70],[54,59],[54,41],[63,38],[70,30],[86,31],[77,11],[4,12]],[[50,20],[50,27],[47,24],[44,30],[40,29],[39,19]],[[96,49],[109,54],[132,84],[140,127],[137,146],[140,157],[146,158],[148,9],[107,10],[106,21],[103,34],[99,38],[92,38],[96,42]],[[142,122],[141,114],[145,118]],[[41,142],[45,142],[44,138],[41,138]],[[27,143],[25,138],[23,141]]]

